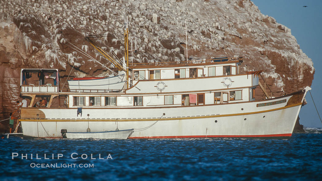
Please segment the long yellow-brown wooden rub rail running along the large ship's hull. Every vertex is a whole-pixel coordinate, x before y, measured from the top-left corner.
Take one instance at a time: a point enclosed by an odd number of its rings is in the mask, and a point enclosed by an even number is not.
[[[202,119],[202,118],[214,118],[214,117],[228,117],[228,116],[239,116],[239,115],[249,115],[249,114],[258,114],[258,113],[267,113],[272,111],[277,111],[281,109],[287,109],[290,107],[295,107],[302,105],[302,103],[293,104],[289,106],[284,106],[280,108],[265,110],[265,111],[257,111],[257,112],[250,112],[250,113],[236,113],[236,114],[222,114],[222,115],[209,115],[209,116],[189,116],[189,117],[175,117],[175,118],[162,118],[160,121],[167,121],[167,120],[183,120],[183,119]],[[41,122],[115,122],[115,121],[157,121],[158,118],[152,118],[152,119],[45,119],[41,120]],[[26,122],[37,122],[36,119],[20,119],[20,122],[26,121]]]

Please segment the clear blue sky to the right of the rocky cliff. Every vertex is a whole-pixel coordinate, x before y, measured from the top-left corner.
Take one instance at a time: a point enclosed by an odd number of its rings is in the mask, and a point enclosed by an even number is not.
[[[252,0],[264,15],[272,16],[277,23],[291,29],[300,49],[313,61],[315,68],[311,94],[322,115],[322,1],[320,0]],[[308,6],[308,7],[303,7]],[[294,90],[297,91],[297,90]],[[322,123],[308,93],[307,105],[301,108],[300,124],[321,128]]]

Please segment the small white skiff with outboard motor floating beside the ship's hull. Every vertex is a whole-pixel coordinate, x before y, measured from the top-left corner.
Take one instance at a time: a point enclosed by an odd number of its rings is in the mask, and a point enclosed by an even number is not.
[[[133,129],[118,131],[101,131],[101,132],[62,132],[63,138],[97,138],[97,139],[127,139]]]

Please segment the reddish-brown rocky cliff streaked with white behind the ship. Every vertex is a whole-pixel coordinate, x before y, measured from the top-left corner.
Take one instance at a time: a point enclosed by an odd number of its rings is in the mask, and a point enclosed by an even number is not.
[[[61,42],[111,67],[84,36],[110,33],[97,42],[122,58],[122,34],[114,33],[123,32],[126,17],[138,38],[134,62],[185,60],[186,20],[189,59],[243,57],[241,72],[263,70],[273,96],[312,83],[313,63],[291,30],[249,0],[7,0],[0,1],[0,120],[19,100],[20,68],[58,68],[62,82],[73,65],[71,77],[110,74]]]

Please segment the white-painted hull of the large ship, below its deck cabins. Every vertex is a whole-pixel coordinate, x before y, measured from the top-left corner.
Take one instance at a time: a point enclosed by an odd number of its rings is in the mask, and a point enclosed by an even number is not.
[[[232,104],[155,108],[40,109],[46,119],[22,120],[24,136],[60,138],[70,132],[135,130],[130,138],[275,137],[291,136],[302,101],[287,105],[290,97]],[[257,104],[281,101],[258,107]],[[166,113],[159,119],[163,113]],[[86,116],[90,114],[89,118]],[[116,124],[117,120],[117,124]],[[153,126],[146,128],[155,123]]]

